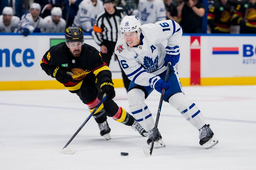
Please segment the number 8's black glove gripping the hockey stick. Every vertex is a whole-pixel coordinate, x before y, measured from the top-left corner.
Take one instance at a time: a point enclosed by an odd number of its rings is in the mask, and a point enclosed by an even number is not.
[[[100,85],[100,92],[98,94],[100,100],[102,100],[104,93],[107,93],[108,95],[106,101],[109,101],[116,96],[114,84],[112,82],[104,82]]]

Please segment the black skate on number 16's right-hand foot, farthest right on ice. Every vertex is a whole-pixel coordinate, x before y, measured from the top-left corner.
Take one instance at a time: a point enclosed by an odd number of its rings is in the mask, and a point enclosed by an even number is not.
[[[210,149],[219,143],[217,138],[214,137],[212,129],[209,128],[209,126],[209,124],[205,124],[201,129],[199,129],[199,144],[203,145],[205,149]]]

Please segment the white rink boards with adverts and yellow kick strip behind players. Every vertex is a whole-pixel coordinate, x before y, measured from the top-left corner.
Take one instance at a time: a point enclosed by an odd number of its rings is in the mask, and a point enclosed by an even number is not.
[[[181,84],[256,85],[255,38],[237,34],[184,34],[177,64]],[[64,40],[62,33],[35,33],[28,37],[1,33],[0,39],[0,90],[64,88],[47,76],[39,64],[52,45]],[[92,36],[85,35],[84,39],[100,49]],[[109,67],[115,87],[123,87],[120,67],[113,56]]]

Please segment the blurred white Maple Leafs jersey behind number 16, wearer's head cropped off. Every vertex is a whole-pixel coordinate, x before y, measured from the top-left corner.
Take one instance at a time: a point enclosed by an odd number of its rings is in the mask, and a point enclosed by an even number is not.
[[[165,5],[162,0],[140,0],[138,11],[141,25],[166,19]]]

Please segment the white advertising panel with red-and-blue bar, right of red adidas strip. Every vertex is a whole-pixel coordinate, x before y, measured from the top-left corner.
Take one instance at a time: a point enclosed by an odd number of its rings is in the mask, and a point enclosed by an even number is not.
[[[201,36],[201,77],[255,77],[256,37]]]

